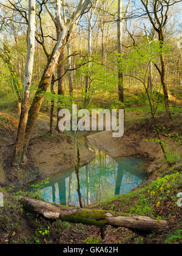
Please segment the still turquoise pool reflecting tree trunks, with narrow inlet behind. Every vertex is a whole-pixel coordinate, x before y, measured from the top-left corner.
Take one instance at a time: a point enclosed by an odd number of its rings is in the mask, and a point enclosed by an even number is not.
[[[79,170],[83,205],[127,194],[146,182],[148,163],[140,158],[120,157],[113,159],[99,151],[86,139],[79,140],[96,154],[95,160]],[[78,206],[77,180],[74,169],[63,171],[49,178],[49,184],[39,191],[47,202]]]

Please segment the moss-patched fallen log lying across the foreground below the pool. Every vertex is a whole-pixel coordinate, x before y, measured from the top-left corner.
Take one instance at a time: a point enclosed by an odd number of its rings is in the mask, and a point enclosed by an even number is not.
[[[43,215],[47,219],[61,219],[74,223],[82,223],[103,227],[127,227],[129,229],[162,230],[167,228],[167,221],[158,221],[144,216],[131,216],[127,213],[116,213],[105,210],[80,209],[63,205],[50,204],[29,197],[22,197],[22,205],[26,210]]]

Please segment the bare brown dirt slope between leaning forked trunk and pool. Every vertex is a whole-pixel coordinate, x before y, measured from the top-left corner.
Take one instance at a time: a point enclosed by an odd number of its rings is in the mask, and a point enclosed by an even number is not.
[[[50,135],[34,140],[29,146],[30,155],[41,175],[46,177],[75,166],[73,138],[64,134]],[[80,144],[81,165],[91,162],[96,155]]]

